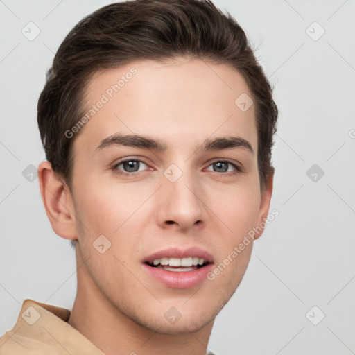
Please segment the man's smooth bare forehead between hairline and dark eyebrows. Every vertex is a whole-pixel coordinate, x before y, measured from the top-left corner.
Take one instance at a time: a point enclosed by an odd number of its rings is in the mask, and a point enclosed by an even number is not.
[[[225,64],[186,58],[132,62],[96,72],[85,94],[92,115],[74,149],[80,145],[87,154],[116,132],[164,138],[185,148],[233,134],[257,150],[254,105],[248,110],[239,105],[240,98],[251,100],[250,89],[241,73]]]

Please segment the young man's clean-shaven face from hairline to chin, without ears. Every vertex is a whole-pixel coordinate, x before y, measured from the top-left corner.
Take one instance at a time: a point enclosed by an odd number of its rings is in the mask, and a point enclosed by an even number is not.
[[[252,241],[234,247],[267,211],[254,106],[234,103],[243,93],[235,69],[185,58],[100,71],[87,87],[88,110],[103,105],[73,144],[86,281],[148,329],[201,329],[248,266]]]

